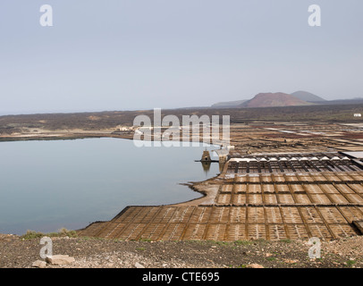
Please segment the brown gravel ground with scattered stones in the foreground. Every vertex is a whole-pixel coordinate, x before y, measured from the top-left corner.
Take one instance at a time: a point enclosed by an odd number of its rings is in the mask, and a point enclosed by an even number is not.
[[[75,258],[46,268],[360,268],[363,237],[322,241],[321,258],[308,257],[306,240],[122,241],[55,237],[54,255]],[[0,234],[0,267],[29,268],[39,256],[39,239]]]

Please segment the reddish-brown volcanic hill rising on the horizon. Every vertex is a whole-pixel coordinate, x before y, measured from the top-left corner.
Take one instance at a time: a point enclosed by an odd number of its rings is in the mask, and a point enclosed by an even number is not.
[[[293,97],[287,93],[259,93],[257,96],[249,99],[241,104],[241,107],[274,107],[274,106],[296,106],[311,105],[297,97]]]

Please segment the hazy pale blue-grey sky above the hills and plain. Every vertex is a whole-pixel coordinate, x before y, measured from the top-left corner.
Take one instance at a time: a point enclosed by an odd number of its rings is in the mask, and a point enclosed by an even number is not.
[[[1,0],[0,114],[363,97],[362,15],[361,0]]]

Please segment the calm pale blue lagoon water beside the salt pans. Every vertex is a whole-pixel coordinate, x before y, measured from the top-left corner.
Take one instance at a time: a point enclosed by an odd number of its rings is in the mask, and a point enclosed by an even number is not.
[[[205,147],[135,147],[127,139],[0,142],[0,233],[76,230],[125,206],[200,198],[179,183],[204,181]],[[208,150],[215,147],[207,147]]]

